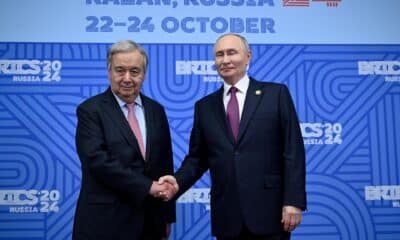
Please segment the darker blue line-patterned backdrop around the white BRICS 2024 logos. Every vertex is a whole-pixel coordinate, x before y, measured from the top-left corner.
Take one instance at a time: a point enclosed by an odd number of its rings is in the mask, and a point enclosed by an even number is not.
[[[62,64],[60,81],[52,82],[13,81],[0,71],[0,190],[56,189],[61,195],[54,213],[15,214],[0,205],[0,239],[71,237],[81,178],[75,111],[107,88],[109,46],[0,43],[0,60]],[[177,74],[175,65],[212,62],[213,46],[143,46],[150,58],[143,91],[165,106],[177,169],[188,151],[194,103],[221,82],[205,80],[217,79],[215,68],[193,65],[194,72],[209,72]],[[306,145],[309,208],[293,238],[400,239],[400,208],[367,201],[364,190],[400,185],[400,83],[358,73],[359,61],[400,61],[400,45],[255,44],[251,50],[249,75],[286,84],[301,123],[342,126],[340,144]],[[193,188],[210,184],[206,173]],[[178,203],[171,239],[212,239],[209,221],[204,204]]]

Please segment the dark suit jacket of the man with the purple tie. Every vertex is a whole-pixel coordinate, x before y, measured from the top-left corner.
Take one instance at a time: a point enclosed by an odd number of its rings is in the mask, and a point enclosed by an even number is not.
[[[238,141],[226,120],[223,87],[195,105],[189,153],[176,172],[180,192],[211,176],[212,233],[282,232],[282,206],[306,208],[305,153],[285,85],[250,79]]]

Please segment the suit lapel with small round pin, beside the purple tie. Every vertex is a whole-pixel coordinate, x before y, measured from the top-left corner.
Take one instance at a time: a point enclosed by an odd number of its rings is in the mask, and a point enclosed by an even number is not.
[[[249,125],[250,119],[257,109],[258,104],[263,96],[264,92],[261,84],[250,78],[249,88],[247,89],[246,99],[244,101],[242,118],[239,125],[238,142],[243,137],[246,129]]]

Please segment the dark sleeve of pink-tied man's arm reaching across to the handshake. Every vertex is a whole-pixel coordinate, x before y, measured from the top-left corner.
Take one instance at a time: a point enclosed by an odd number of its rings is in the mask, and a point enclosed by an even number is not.
[[[152,180],[139,171],[123,166],[110,153],[109,149],[113,146],[106,142],[104,135],[104,128],[107,126],[103,125],[96,110],[81,105],[77,109],[77,117],[76,147],[82,169],[85,169],[83,172],[108,186],[113,193],[128,197],[135,206],[141,206],[148,195]],[[93,183],[90,187],[95,186]]]

